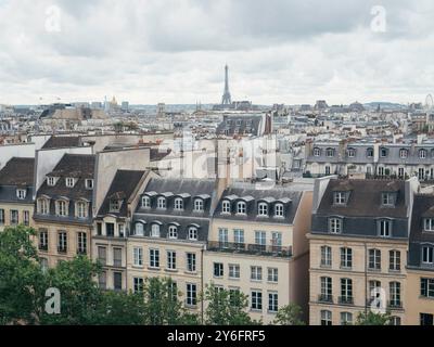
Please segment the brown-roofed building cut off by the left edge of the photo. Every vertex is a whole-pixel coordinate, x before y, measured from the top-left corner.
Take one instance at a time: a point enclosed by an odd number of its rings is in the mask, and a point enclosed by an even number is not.
[[[0,231],[33,226],[34,158],[12,157],[0,170]]]

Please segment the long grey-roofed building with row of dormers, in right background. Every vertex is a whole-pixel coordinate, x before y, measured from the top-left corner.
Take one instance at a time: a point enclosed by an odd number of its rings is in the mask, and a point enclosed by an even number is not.
[[[434,143],[308,142],[305,172],[314,177],[349,171],[420,181],[434,179]]]

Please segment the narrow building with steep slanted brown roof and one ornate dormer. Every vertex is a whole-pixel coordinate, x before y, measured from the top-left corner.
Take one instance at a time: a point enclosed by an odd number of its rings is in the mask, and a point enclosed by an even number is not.
[[[149,171],[117,170],[94,218],[92,259],[103,266],[99,285],[106,290],[127,288],[127,236],[139,195]]]

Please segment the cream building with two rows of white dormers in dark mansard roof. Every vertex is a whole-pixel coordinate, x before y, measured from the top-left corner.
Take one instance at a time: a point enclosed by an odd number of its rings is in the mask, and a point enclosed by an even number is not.
[[[186,307],[201,310],[203,250],[215,180],[152,178],[140,192],[127,242],[127,288],[170,277]]]

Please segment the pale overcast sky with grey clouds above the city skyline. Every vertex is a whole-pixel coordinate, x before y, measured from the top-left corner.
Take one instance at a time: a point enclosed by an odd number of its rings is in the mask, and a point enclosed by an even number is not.
[[[432,0],[0,0],[0,104],[424,102]]]

